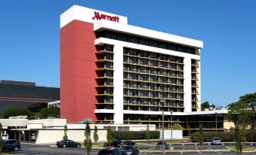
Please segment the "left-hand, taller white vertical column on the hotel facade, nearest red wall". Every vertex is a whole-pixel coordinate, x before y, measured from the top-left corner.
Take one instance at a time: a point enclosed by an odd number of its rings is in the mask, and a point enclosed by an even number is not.
[[[123,47],[122,44],[114,45],[114,123],[122,124],[123,114]]]

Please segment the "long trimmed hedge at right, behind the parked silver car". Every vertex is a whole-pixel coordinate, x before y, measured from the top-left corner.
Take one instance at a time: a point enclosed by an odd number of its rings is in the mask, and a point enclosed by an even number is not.
[[[221,141],[234,141],[235,132],[203,132],[203,141],[211,141],[214,137],[221,138]],[[256,141],[256,130],[248,130],[245,133],[246,141]],[[194,142],[199,141],[199,132],[191,134],[191,140]]]

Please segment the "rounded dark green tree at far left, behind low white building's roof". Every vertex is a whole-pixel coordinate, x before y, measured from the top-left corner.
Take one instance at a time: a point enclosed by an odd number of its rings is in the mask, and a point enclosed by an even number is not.
[[[9,108],[3,114],[4,118],[17,116],[27,116],[28,119],[34,118],[34,114],[26,108]]]

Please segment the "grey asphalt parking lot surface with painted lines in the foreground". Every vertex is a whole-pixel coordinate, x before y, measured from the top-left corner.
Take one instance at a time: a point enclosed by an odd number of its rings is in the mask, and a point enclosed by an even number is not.
[[[229,144],[232,145],[232,144]],[[147,145],[138,145],[140,150],[153,150],[154,147],[147,146]],[[196,151],[186,151],[187,149],[196,149]],[[201,149],[213,149],[213,148],[224,148],[223,145],[211,145],[211,144],[203,144]],[[183,149],[183,150],[182,150]],[[196,144],[174,144],[174,152],[171,153],[165,153],[165,154],[236,154],[235,152],[231,151],[202,151],[199,150],[199,147]],[[177,151],[175,151],[177,150]],[[185,151],[184,151],[185,150]],[[99,150],[91,150],[91,155],[97,155]],[[63,154],[63,155],[80,155],[85,154],[85,150],[83,148],[59,148],[59,147],[51,147],[49,145],[42,145],[42,144],[22,144],[22,149],[18,150],[17,152],[11,151],[11,152],[5,152],[6,154],[33,154],[33,155],[57,155],[57,154]],[[162,154],[162,153],[142,153],[140,151],[140,154]],[[242,154],[255,154],[254,153],[242,153]]]

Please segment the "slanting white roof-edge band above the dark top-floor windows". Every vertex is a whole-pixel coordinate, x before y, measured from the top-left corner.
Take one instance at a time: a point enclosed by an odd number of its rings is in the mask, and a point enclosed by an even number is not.
[[[192,38],[185,38],[178,35],[171,35],[165,32],[159,32],[151,29],[145,29],[138,26],[131,26],[122,23],[113,23],[107,20],[100,20],[94,23],[94,31],[110,29],[113,32],[124,32],[126,34],[143,36],[145,38],[153,38],[159,41],[167,41],[170,43],[183,44],[190,47],[202,48],[203,42]]]

